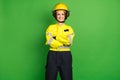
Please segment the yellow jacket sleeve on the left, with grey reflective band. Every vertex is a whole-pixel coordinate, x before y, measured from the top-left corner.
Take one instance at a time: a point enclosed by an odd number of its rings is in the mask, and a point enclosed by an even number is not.
[[[46,30],[46,45],[49,45],[52,48],[58,48],[60,46],[63,46],[63,43],[53,38],[50,27],[48,27],[48,29]]]

